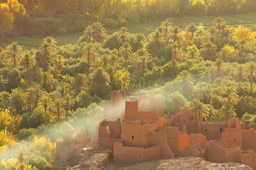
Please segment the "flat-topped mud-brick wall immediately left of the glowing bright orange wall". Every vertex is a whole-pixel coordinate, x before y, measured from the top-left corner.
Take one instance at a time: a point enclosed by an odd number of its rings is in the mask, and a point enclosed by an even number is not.
[[[168,146],[174,155],[179,154],[179,127],[159,127],[158,132],[166,133]]]

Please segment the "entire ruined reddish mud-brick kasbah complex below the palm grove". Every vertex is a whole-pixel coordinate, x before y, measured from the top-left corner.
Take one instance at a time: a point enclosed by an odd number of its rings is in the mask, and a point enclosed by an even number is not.
[[[164,114],[165,101],[151,93],[120,90],[103,103],[103,120],[89,129],[64,134],[56,143],[57,157],[96,145],[111,149],[114,163],[133,165],[176,157],[201,157],[214,163],[240,163],[256,169],[256,133],[237,119],[195,121],[180,110]],[[89,139],[88,139],[89,138]],[[87,139],[87,140],[86,140]]]

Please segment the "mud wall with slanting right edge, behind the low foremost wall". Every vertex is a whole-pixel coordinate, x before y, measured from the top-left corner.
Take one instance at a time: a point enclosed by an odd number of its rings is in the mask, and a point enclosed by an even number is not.
[[[161,132],[149,132],[149,146],[160,145],[160,159],[173,159],[174,155],[170,146],[167,144],[166,133]]]

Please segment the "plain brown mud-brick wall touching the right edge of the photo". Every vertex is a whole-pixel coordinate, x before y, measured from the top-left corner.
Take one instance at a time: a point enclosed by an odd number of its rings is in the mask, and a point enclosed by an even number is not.
[[[241,137],[242,137],[242,150],[253,150],[256,152],[256,134],[255,130],[245,129],[241,131]]]

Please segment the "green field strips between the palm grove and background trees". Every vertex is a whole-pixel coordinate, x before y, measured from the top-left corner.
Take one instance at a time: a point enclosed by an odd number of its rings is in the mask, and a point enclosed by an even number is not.
[[[221,15],[218,15],[221,16]],[[212,21],[217,16],[202,16],[202,17],[184,17],[184,22],[180,23],[178,26],[182,29],[185,29],[185,27],[191,23],[194,22],[200,27],[207,27],[209,25],[212,25]],[[253,27],[253,31],[256,31],[256,12],[244,14],[244,15],[228,15],[228,16],[221,16],[226,20],[226,23],[232,27],[238,27],[239,25],[242,26],[250,26]],[[144,35],[149,35],[151,32],[153,32],[157,27],[161,25],[161,22],[163,20],[159,21],[153,21],[153,22],[145,22],[141,24],[135,24],[135,25],[129,25],[127,28],[129,29],[129,32],[131,33],[143,33]],[[111,34],[114,31],[118,31],[120,28],[113,28],[108,34]],[[77,42],[79,37],[83,35],[83,32],[78,33],[72,33],[72,34],[66,34],[66,35],[56,35],[53,36],[55,40],[57,41],[57,46],[62,46],[65,44],[74,44]],[[0,41],[1,47],[6,47],[8,44],[10,44],[13,41],[18,41],[24,48],[26,49],[32,49],[32,48],[39,48],[41,46],[42,40],[45,37],[21,37],[18,39],[8,39],[4,41]]]

